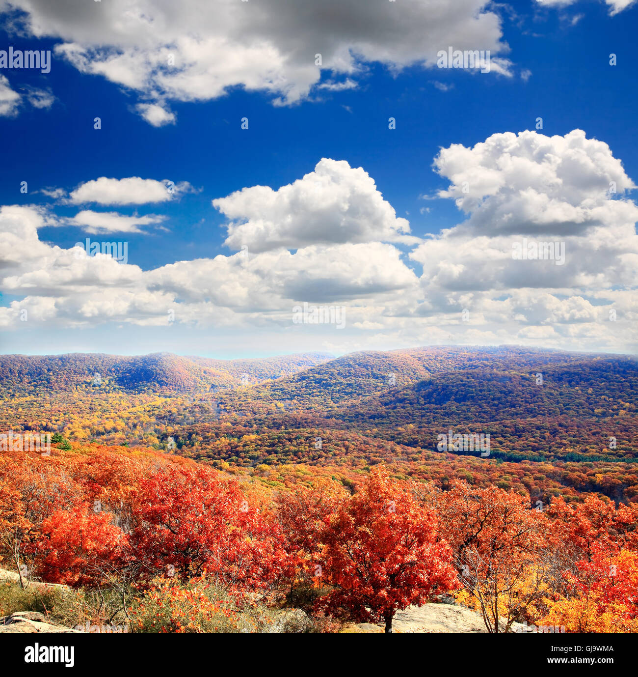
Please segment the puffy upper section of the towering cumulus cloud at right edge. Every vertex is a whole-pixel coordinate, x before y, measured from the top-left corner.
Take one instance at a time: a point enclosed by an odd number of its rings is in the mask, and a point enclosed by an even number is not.
[[[434,167],[451,181],[438,195],[470,215],[459,232],[582,234],[638,216],[633,202],[618,199],[635,188],[622,162],[580,129],[552,137],[493,134],[473,148],[453,144]]]

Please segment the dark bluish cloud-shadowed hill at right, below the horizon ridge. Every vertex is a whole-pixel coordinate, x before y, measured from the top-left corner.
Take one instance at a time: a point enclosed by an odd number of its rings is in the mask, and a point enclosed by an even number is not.
[[[359,424],[491,422],[572,416],[581,422],[612,416],[638,401],[638,362],[624,355],[512,354],[348,404],[338,416]]]

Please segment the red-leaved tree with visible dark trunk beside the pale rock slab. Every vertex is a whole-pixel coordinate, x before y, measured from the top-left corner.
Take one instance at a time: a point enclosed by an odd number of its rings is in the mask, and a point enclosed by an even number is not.
[[[327,518],[319,538],[322,575],[334,588],[321,605],[359,621],[383,620],[386,632],[396,611],[458,585],[434,512],[419,506],[383,466]]]

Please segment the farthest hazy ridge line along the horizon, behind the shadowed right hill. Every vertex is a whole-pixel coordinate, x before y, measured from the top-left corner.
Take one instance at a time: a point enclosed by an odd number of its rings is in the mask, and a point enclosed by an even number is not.
[[[112,355],[0,355],[5,393],[91,389],[101,391],[202,394],[257,386],[250,397],[291,399],[332,408],[389,390],[402,389],[446,372],[530,372],[545,366],[600,359],[630,361],[626,355],[570,353],[522,346],[428,346],[393,351],[359,351],[334,357],[311,352],[254,359],[212,359],[151,353]],[[423,388],[420,385],[419,388]],[[242,389],[245,391],[245,388]]]

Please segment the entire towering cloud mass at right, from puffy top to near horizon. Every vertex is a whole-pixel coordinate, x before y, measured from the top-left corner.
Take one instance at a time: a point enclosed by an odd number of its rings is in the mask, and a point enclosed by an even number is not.
[[[439,197],[467,219],[411,252],[424,270],[413,312],[463,324],[465,309],[468,326],[508,327],[524,342],[635,346],[638,207],[607,144],[580,130],[495,134],[443,148],[434,168],[451,181]],[[622,323],[609,324],[612,311]]]

